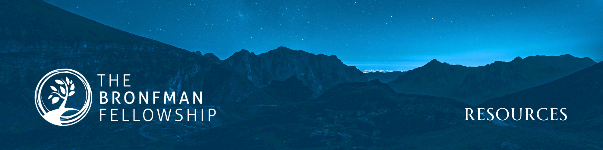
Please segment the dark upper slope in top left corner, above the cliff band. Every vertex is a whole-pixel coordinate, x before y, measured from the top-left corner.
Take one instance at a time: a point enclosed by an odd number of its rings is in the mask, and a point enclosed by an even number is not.
[[[47,44],[47,47],[63,47],[62,44],[77,43],[75,47],[183,50],[103,25],[44,1],[2,1],[0,8],[0,13],[3,14],[0,18],[0,41],[4,41],[2,45],[35,47]],[[44,13],[28,11],[31,9],[44,10]]]

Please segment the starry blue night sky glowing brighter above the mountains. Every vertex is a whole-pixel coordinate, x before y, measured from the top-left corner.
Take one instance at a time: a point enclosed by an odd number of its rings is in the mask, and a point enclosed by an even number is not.
[[[361,70],[438,59],[479,66],[516,56],[603,60],[603,1],[45,0],[182,49],[226,59],[279,46]]]

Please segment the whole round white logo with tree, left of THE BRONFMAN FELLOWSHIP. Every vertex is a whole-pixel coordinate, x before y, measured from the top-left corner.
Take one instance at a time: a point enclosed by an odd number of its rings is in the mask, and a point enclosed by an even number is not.
[[[67,126],[86,116],[92,104],[92,90],[88,80],[77,71],[58,69],[42,77],[34,99],[42,118],[54,125]]]

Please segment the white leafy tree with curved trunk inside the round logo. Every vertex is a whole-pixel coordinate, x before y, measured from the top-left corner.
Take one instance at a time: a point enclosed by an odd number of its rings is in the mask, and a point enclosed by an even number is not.
[[[60,90],[58,90],[54,86],[50,86],[50,88],[54,92],[52,92],[48,96],[48,99],[52,98],[52,104],[57,103],[59,100],[63,99],[63,103],[61,104],[60,107],[58,107],[58,109],[51,110],[50,112],[46,113],[42,117],[52,124],[61,124],[61,123],[65,122],[65,121],[62,121],[62,119],[69,118],[68,116],[67,117],[63,116],[63,113],[65,113],[69,110],[77,110],[77,109],[65,107],[65,104],[67,103],[67,98],[69,98],[69,96],[75,94],[75,91],[73,91],[75,89],[75,85],[73,83],[73,80],[69,80],[68,77],[65,77],[65,80],[63,80],[63,79],[54,80],[54,82],[56,82],[59,85],[58,87],[60,88]]]

